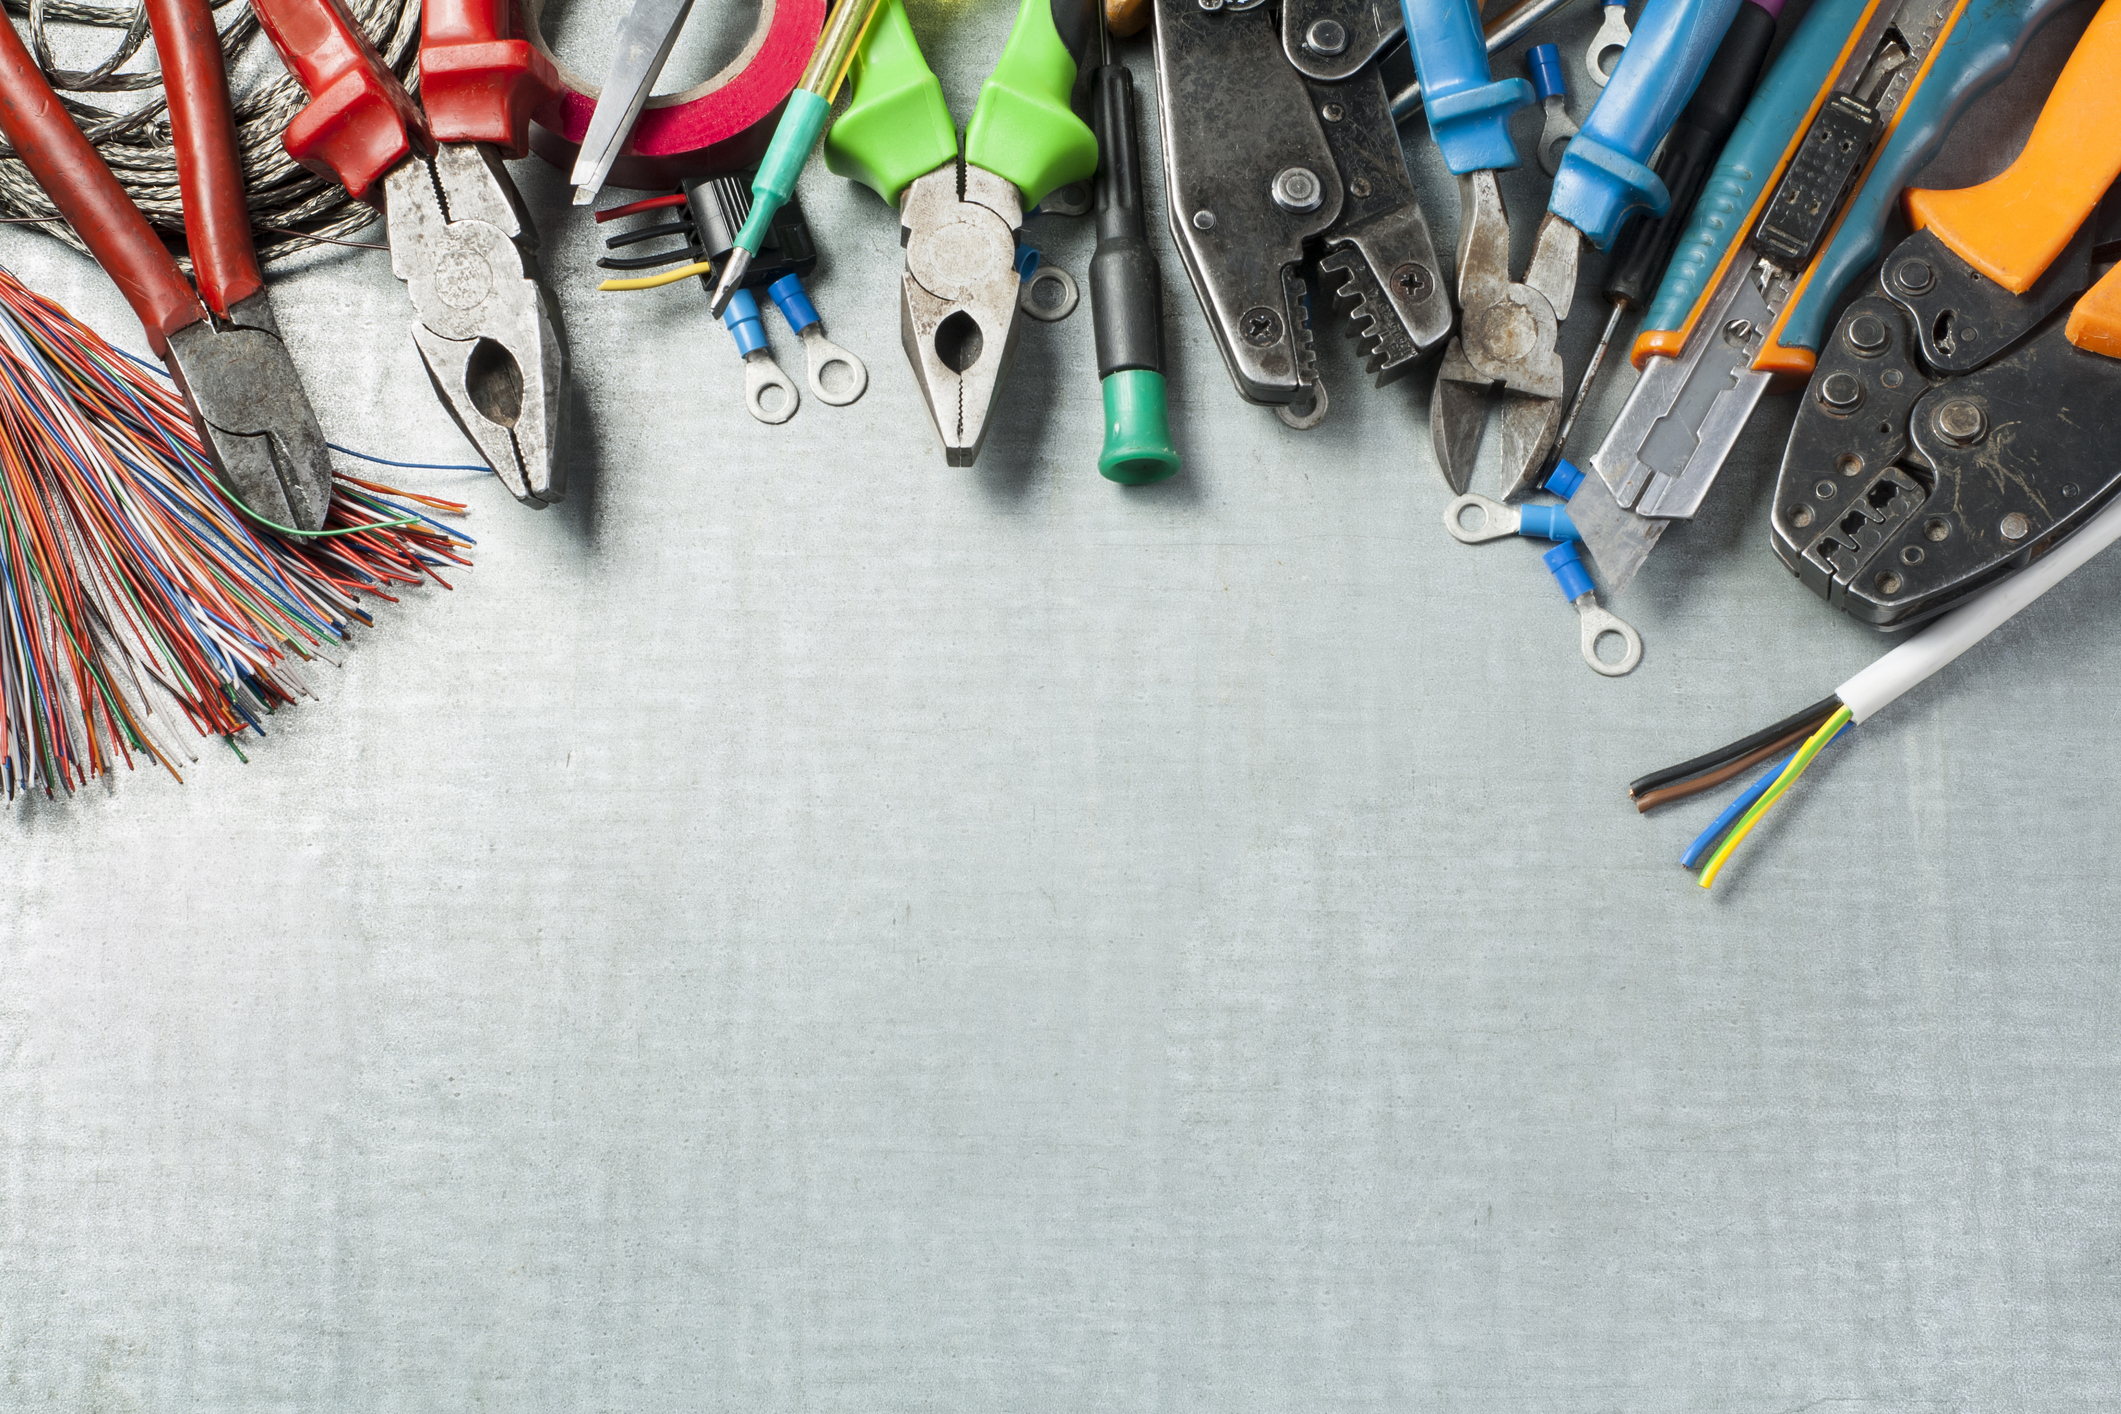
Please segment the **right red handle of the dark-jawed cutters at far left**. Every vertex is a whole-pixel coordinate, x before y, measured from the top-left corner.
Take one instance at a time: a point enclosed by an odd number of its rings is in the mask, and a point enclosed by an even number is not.
[[[146,0],[170,95],[170,134],[176,176],[185,189],[185,242],[199,273],[206,307],[229,305],[265,288],[250,246],[250,208],[244,206],[244,167],[235,155],[235,112],[229,76],[221,68],[221,34],[206,0]]]

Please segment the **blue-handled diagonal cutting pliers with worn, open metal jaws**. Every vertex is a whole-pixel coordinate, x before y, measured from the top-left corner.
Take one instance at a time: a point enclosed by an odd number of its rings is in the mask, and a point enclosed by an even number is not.
[[[1582,244],[1612,246],[1640,210],[1665,214],[1646,165],[1693,98],[1739,0],[1648,0],[1612,81],[1570,140],[1523,280],[1510,280],[1510,218],[1495,178],[1519,165],[1508,119],[1531,102],[1523,78],[1489,78],[1474,0],[1402,0],[1430,131],[1459,178],[1459,337],[1430,401],[1430,437],[1453,492],[1466,492],[1493,392],[1502,494],[1533,490],[1561,426],[1555,348],[1576,297]]]

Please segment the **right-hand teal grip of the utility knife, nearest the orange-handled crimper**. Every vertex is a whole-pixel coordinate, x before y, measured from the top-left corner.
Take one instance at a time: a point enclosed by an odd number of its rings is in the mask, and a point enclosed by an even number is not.
[[[1818,352],[1850,280],[1883,254],[1886,220],[1909,178],[1936,155],[1960,112],[2017,66],[2026,40],[2068,4],[2076,0],[1966,0],[1930,72],[1922,76],[1922,87],[1900,104],[1900,123],[1850,197],[1841,227],[1813,257],[1811,280],[1796,295],[1777,335],[1784,348]]]

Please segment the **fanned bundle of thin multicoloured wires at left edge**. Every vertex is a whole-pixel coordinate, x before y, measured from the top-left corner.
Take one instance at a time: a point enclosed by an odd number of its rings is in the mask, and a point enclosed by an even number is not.
[[[0,782],[72,793],[144,755],[182,780],[199,736],[263,733],[310,695],[363,596],[469,564],[409,509],[337,477],[331,517],[267,534],[223,494],[165,375],[0,269]],[[395,602],[395,600],[392,600]]]

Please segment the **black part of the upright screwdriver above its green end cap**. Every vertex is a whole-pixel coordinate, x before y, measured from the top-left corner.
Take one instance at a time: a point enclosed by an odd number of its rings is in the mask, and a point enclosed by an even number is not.
[[[1107,64],[1090,76],[1090,127],[1097,131],[1097,254],[1090,257],[1090,318],[1097,322],[1097,375],[1122,369],[1164,371],[1164,288],[1141,208],[1141,134],[1135,76]]]

